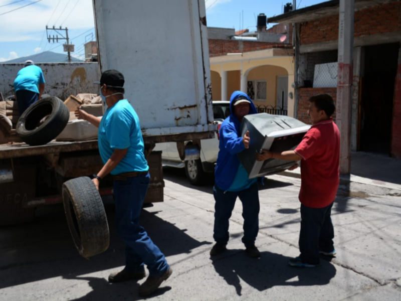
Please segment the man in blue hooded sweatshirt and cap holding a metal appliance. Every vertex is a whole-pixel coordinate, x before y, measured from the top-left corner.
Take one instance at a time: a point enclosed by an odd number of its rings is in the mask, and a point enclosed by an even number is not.
[[[249,132],[241,135],[240,125],[245,115],[256,114],[254,103],[249,96],[235,91],[230,99],[231,115],[220,127],[219,155],[215,171],[215,226],[213,238],[216,244],[210,254],[218,255],[226,250],[229,241],[229,219],[237,197],[243,206],[244,236],[246,253],[251,257],[259,257],[255,246],[259,231],[259,194],[257,179],[248,179],[248,173],[240,163],[237,154],[249,147]]]

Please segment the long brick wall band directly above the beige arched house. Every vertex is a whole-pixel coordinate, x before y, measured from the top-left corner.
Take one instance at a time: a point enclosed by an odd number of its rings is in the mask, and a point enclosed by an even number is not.
[[[271,42],[258,41],[233,41],[233,40],[216,40],[209,39],[209,55],[210,57],[226,55],[228,53],[241,53],[248,51],[256,51],[271,48],[287,48],[292,46],[287,44],[277,44]]]

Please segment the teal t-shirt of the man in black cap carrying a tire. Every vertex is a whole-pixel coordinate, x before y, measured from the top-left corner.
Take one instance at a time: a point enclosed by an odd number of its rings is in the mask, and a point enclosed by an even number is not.
[[[112,175],[149,170],[143,154],[144,143],[139,118],[128,100],[122,99],[106,110],[99,125],[98,144],[104,164],[115,148],[128,148],[127,155],[111,172]]]

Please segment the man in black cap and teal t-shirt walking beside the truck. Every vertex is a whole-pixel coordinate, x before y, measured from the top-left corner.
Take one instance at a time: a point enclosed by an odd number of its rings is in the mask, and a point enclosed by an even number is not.
[[[144,156],[144,143],[139,118],[124,98],[124,76],[116,70],[103,72],[100,95],[108,109],[103,117],[95,117],[83,110],[75,111],[99,128],[99,152],[103,168],[93,176],[99,182],[108,174],[114,176],[115,218],[118,235],[126,244],[125,268],[109,275],[109,282],[121,282],[145,277],[144,264],[149,276],[139,286],[140,295],[155,291],[171,275],[164,254],[139,225],[143,200],[149,185],[149,167]]]

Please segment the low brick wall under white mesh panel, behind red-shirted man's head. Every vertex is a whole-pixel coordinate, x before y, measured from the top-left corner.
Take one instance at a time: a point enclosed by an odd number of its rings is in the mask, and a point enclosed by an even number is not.
[[[298,115],[297,119],[310,124],[308,117],[308,107],[309,107],[309,98],[314,95],[327,93],[333,97],[334,102],[337,98],[337,88],[300,88],[298,89]],[[333,114],[333,119],[335,121],[335,112]]]

